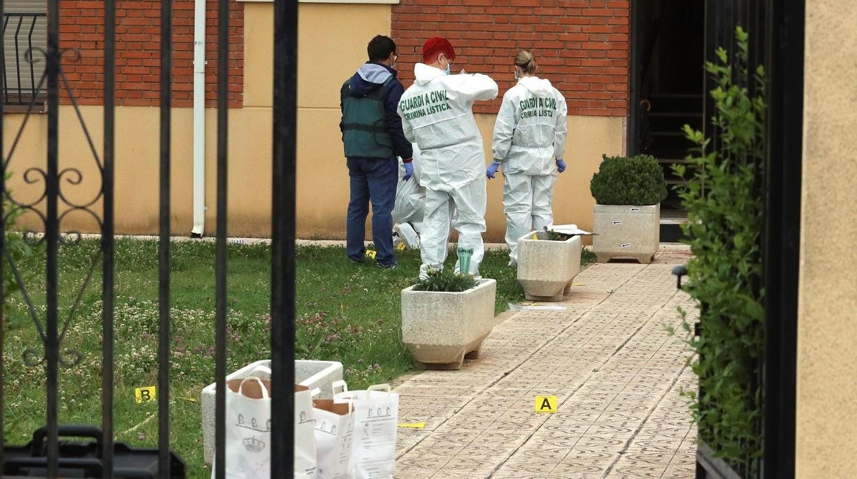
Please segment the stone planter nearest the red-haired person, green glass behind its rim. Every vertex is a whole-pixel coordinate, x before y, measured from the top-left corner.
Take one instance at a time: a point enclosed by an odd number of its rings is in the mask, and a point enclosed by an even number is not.
[[[494,279],[458,293],[402,290],[402,341],[417,368],[459,369],[465,357],[478,357],[494,329],[496,292]]]

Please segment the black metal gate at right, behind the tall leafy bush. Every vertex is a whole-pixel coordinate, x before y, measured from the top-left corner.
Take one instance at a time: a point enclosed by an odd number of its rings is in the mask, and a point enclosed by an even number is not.
[[[748,64],[764,65],[768,78],[764,177],[758,178],[765,203],[760,245],[764,354],[757,365],[764,410],[758,424],[763,440],[758,477],[789,479],[794,477],[795,450],[805,2],[706,0],[705,9],[706,59],[715,60],[719,46],[734,57],[734,27],[745,27],[752,33]],[[706,92],[711,89],[705,86]],[[708,96],[704,111],[706,120],[715,111]],[[706,121],[705,127],[707,137],[720,141],[714,126]]]

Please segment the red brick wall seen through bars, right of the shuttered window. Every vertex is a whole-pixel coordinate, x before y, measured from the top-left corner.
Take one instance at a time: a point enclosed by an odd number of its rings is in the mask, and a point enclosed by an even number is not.
[[[118,0],[116,104],[159,105],[159,1]],[[172,0],[172,105],[193,105],[194,0]],[[207,0],[206,105],[217,99],[217,2]],[[104,2],[60,0],[60,47],[75,48],[81,58],[63,58],[63,70],[82,105],[104,100]],[[230,1],[229,104],[243,104],[244,9]],[[66,93],[63,93],[66,95]],[[68,101],[66,99],[66,101]]]

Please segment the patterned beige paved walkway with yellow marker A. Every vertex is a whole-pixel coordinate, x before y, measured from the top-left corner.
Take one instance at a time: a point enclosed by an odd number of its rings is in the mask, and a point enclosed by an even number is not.
[[[396,477],[693,477],[695,428],[680,388],[695,390],[691,351],[667,326],[692,301],[675,289],[685,247],[656,262],[593,265],[561,311],[504,320],[482,357],[396,388]],[[695,313],[693,313],[695,314]],[[536,414],[536,395],[556,414]]]

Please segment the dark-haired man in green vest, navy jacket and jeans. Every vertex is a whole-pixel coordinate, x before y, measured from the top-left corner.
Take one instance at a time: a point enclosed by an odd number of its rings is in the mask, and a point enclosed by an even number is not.
[[[378,35],[367,47],[369,62],[345,81],[339,92],[342,141],[345,144],[351,201],[345,226],[346,253],[359,263],[369,202],[372,203],[372,240],[375,265],[396,266],[393,256],[393,205],[399,182],[399,160],[405,162],[404,181],[413,176],[411,142],[405,139],[402,119],[396,111],[405,87],[396,78],[396,44]]]

